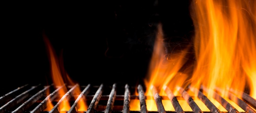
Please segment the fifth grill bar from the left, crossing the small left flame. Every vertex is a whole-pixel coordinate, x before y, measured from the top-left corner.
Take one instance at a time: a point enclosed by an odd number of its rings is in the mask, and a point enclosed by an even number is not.
[[[68,101],[69,98],[71,97],[71,93],[74,91],[75,88],[79,87],[78,84],[75,84],[62,98],[59,100],[59,102],[53,107],[53,109],[49,113],[59,113],[60,108],[59,105],[62,101],[65,101],[65,99]]]

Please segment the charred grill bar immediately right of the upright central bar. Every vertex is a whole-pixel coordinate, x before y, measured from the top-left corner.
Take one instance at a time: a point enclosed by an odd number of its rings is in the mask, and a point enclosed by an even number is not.
[[[147,113],[147,105],[145,100],[145,95],[142,86],[139,84],[138,86],[139,99],[140,99],[140,112]]]

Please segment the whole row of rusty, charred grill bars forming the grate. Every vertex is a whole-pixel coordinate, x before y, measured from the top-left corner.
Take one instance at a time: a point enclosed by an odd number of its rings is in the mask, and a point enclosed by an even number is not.
[[[62,97],[58,96],[58,91],[66,86],[59,86],[54,87],[54,85],[45,86],[37,85],[37,86],[29,86],[28,84],[19,87],[10,93],[7,93],[0,97],[0,113],[59,113],[60,108],[59,104],[64,100],[69,100],[71,104],[71,108],[69,111],[64,111],[66,113],[243,113],[239,112],[235,107],[233,107],[228,101],[226,101],[223,97],[218,95],[215,91],[212,91],[214,93],[214,99],[216,99],[228,112],[222,112],[220,111],[204,94],[202,91],[208,92],[209,90],[203,86],[201,86],[201,90],[197,90],[195,88],[189,87],[187,90],[177,87],[179,93],[182,96],[174,96],[172,91],[165,86],[163,89],[167,96],[160,96],[157,89],[152,86],[152,94],[155,99],[156,107],[158,111],[148,111],[147,105],[146,105],[146,99],[148,96],[144,94],[143,86],[141,84],[138,85],[138,87],[132,87],[134,90],[137,89],[138,95],[131,95],[131,87],[129,87],[128,84],[125,85],[125,87],[118,86],[118,84],[114,83],[112,87],[110,86],[104,86],[101,84],[100,86],[92,86],[91,84],[88,84],[87,86],[79,86],[78,84],[75,84],[74,86],[71,86],[69,91],[63,95]],[[80,88],[84,89],[80,95],[74,95],[74,89]],[[97,89],[97,91],[94,93],[94,90]],[[110,93],[104,94],[103,89],[105,88],[111,89]],[[47,90],[52,89],[51,94],[46,94]],[[119,89],[124,89],[123,92],[118,92]],[[191,91],[194,93],[197,93],[198,98],[207,106],[210,110],[210,112],[202,111],[200,109],[200,106],[197,105],[197,103],[193,100],[193,96],[190,96],[187,91]],[[220,89],[216,89],[218,92]],[[108,90],[106,90],[108,92]],[[76,99],[74,99],[74,97]],[[184,111],[181,107],[179,101],[177,98],[183,98],[187,101],[188,105],[193,111]],[[255,111],[255,99],[250,97],[248,94],[243,93],[242,99],[239,99],[233,90],[230,90],[229,93],[230,100],[234,101],[238,106],[240,106],[245,112],[244,113],[256,113]],[[131,111],[130,102],[132,99],[139,99],[140,104],[140,111]],[[175,111],[166,111],[166,109],[163,106],[162,100],[169,100],[171,101]],[[107,102],[102,102],[102,100]],[[52,108],[51,111],[43,111],[47,106],[48,102],[56,102],[55,106]],[[87,101],[89,104],[87,111],[77,111],[77,103],[79,101]],[[116,105],[116,101],[119,102],[119,105]],[[121,103],[120,101],[123,101]],[[118,103],[117,102],[117,103]],[[98,110],[97,107],[99,105],[102,106],[102,103],[105,104],[101,107],[104,108],[104,110]],[[114,109],[114,106],[122,106],[122,108],[119,107],[118,110]],[[166,107],[168,107],[166,106]],[[122,110],[120,110],[122,109]]]

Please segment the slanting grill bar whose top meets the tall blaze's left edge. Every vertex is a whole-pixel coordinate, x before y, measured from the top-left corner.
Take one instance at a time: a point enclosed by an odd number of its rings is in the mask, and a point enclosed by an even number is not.
[[[212,113],[221,113],[221,111],[201,91],[191,87],[189,89],[194,93],[198,93],[198,98],[201,99],[201,101],[207,106],[207,108],[209,108]]]

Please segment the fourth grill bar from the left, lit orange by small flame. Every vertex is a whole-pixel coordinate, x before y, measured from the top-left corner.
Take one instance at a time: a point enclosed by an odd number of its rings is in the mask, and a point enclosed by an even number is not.
[[[64,85],[63,85],[64,86]],[[63,86],[60,86],[59,88],[57,88],[54,92],[52,92],[51,94],[49,94],[37,107],[35,107],[35,109],[33,109],[33,111],[31,111],[30,113],[40,113],[41,111],[43,111],[47,105],[49,104],[48,100],[52,101],[53,99],[55,99],[58,95],[58,92],[61,88],[63,88]]]

